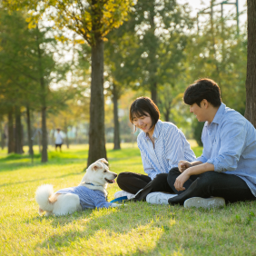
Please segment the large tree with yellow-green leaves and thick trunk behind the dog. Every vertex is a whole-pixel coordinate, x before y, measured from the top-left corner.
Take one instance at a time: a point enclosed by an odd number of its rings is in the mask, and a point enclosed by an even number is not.
[[[103,97],[103,40],[114,27],[122,25],[132,0],[48,0],[5,1],[13,7],[19,5],[34,9],[34,16],[47,17],[56,27],[68,28],[79,34],[91,46],[91,103],[89,155],[87,164],[99,158],[106,158],[104,136],[104,97]],[[37,5],[38,4],[38,5]],[[51,10],[54,10],[51,12]],[[38,16],[37,16],[38,17]]]

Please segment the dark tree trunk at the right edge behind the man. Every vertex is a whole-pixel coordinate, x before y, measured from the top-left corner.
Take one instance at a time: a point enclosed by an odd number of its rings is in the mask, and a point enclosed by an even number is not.
[[[247,1],[248,45],[247,45],[247,76],[246,76],[246,108],[247,118],[256,128],[256,2]]]

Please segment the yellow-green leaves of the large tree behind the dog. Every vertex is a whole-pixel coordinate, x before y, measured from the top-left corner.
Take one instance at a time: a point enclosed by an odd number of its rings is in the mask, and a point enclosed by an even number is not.
[[[9,9],[29,10],[27,21],[35,26],[47,13],[47,19],[54,21],[54,28],[68,28],[81,35],[90,45],[95,45],[99,38],[105,36],[123,24],[133,5],[131,0],[47,0],[47,1],[4,1]],[[65,40],[64,37],[59,39]],[[78,40],[77,43],[80,43]]]

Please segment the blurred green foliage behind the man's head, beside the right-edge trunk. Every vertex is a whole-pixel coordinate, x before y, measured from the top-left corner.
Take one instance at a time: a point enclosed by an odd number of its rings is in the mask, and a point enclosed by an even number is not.
[[[222,19],[214,18],[212,24],[202,25],[185,49],[187,84],[202,77],[212,78],[221,88],[222,102],[244,114],[246,45],[245,27],[238,35],[236,25],[227,25]]]

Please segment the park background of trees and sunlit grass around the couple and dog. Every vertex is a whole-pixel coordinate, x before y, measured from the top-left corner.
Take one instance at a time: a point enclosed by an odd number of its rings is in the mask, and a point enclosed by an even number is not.
[[[1,255],[255,255],[255,202],[210,211],[139,202],[60,218],[39,217],[34,202],[37,186],[75,186],[102,157],[113,172],[143,173],[129,121],[138,96],[197,156],[203,123],[182,103],[196,79],[215,80],[223,103],[255,125],[247,11],[241,0],[0,1]]]

